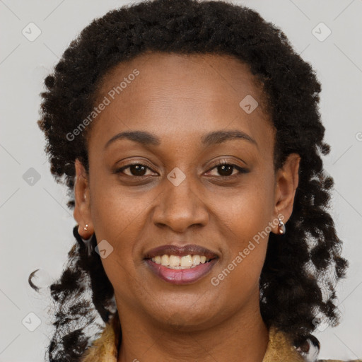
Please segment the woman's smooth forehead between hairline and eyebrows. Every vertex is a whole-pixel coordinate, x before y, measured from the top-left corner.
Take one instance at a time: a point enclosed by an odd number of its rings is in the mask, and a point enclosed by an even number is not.
[[[93,124],[98,143],[130,129],[178,140],[228,128],[256,139],[271,134],[262,87],[228,54],[146,52],[107,71],[97,95],[95,105],[109,100]],[[245,112],[250,102],[257,107]]]

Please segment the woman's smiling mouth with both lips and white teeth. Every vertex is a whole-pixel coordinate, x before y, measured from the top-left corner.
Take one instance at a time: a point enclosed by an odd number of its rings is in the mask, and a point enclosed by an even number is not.
[[[199,245],[163,245],[146,253],[153,274],[171,284],[192,284],[209,274],[218,255]]]

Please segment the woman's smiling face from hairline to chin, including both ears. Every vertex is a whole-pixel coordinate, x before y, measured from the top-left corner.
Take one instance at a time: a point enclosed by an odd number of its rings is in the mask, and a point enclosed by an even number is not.
[[[137,314],[190,329],[259,313],[269,233],[288,220],[298,185],[297,155],[274,173],[261,92],[245,64],[211,54],[148,53],[104,78],[89,175],[76,162],[74,216],[103,250],[121,323]],[[170,269],[158,262],[178,262],[175,250],[146,259],[163,245],[211,251],[185,250],[184,265],[214,260]]]

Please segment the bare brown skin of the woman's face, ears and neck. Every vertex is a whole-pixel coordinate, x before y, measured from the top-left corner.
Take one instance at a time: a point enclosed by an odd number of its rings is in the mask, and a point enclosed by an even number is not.
[[[114,248],[102,262],[122,326],[118,362],[261,362],[269,332],[259,310],[259,275],[269,233],[218,286],[211,278],[268,225],[278,233],[278,215],[288,221],[300,156],[289,155],[274,172],[275,129],[262,88],[238,59],[148,52],[108,71],[95,104],[133,69],[139,76],[88,129],[89,173],[75,163],[79,233],[95,233]],[[250,114],[239,106],[246,95],[259,103]],[[245,132],[257,145],[202,144],[204,134],[226,129]],[[104,149],[130,130],[150,132],[160,144],[119,139]],[[215,167],[223,159],[249,172],[223,172]],[[112,173],[132,161],[148,168]],[[186,177],[178,186],[167,178],[175,167]],[[218,262],[194,284],[168,284],[149,271],[144,253],[171,243],[207,247]]]

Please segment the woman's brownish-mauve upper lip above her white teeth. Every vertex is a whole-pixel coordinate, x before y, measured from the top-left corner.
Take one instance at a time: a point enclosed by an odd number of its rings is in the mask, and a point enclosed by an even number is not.
[[[185,255],[205,255],[206,259],[215,259],[218,257],[216,253],[200,245],[189,244],[185,246],[177,246],[168,244],[149,250],[146,252],[145,259],[151,259],[157,255],[177,255],[178,257],[184,257]]]

